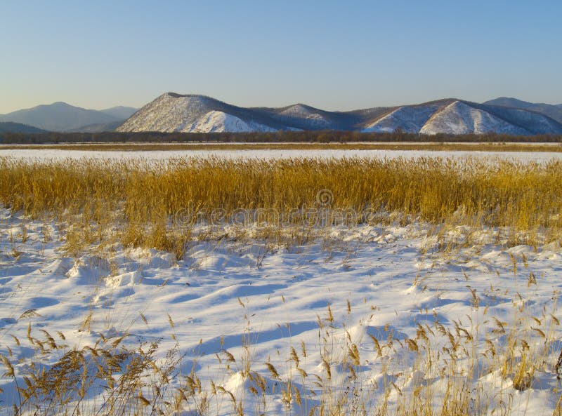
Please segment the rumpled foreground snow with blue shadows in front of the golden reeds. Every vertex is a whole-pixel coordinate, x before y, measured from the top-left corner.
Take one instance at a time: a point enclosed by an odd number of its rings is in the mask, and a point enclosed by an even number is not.
[[[130,334],[124,341],[130,344],[162,340],[163,350],[177,340],[186,363],[197,359],[195,370],[203,384],[212,379],[244,398],[247,413],[259,408],[268,415],[306,415],[294,403],[288,410],[280,388],[273,391],[273,385],[282,383],[271,378],[266,363],[277,368],[281,380],[293,377],[297,385],[301,379],[289,361],[290,349],[301,351],[304,342],[308,355],[301,356],[299,368],[311,378],[325,377],[319,344],[327,331],[336,341],[331,347],[332,380],[344,371],[336,364],[348,354],[346,343],[355,344],[360,356],[358,380],[342,386],[370,389],[369,400],[379,404],[384,382],[396,386],[387,397],[390,405],[400,401],[398,391],[419,386],[435,387],[438,397],[445,380],[438,373],[443,364],[439,360],[448,359],[446,346],[439,343],[450,340],[437,336],[440,324],[455,339],[456,331],[460,345],[475,352],[476,374],[468,378],[479,397],[473,408],[501,408],[509,402],[514,415],[552,415],[556,408],[560,386],[554,366],[562,333],[555,322],[562,320],[556,307],[562,253],[554,245],[503,248],[502,241],[488,241],[481,234],[475,246],[443,251],[436,237],[427,236],[424,224],[361,226],[320,230],[320,238],[303,244],[194,241],[183,260],[176,260],[170,253],[120,246],[73,257],[62,250],[62,231],[54,222],[0,209],[0,354],[9,356],[11,349],[16,373],[25,371],[26,356],[34,354],[25,343],[29,324],[32,336],[42,337],[41,330],[60,331],[71,346],[93,344],[98,333]],[[462,239],[464,231],[456,230],[450,239]],[[333,322],[327,321],[328,305]],[[319,321],[326,325],[322,330]],[[535,363],[525,389],[515,389],[514,373],[502,376],[493,358],[485,355],[490,344],[500,355],[514,325],[513,334],[527,343],[528,351],[535,351],[534,358],[544,360]],[[422,350],[420,328],[437,334],[426,333],[438,345],[434,354],[441,354],[433,356],[435,369],[426,372],[419,370],[421,353],[407,342],[417,340]],[[11,335],[22,340],[20,346]],[[388,340],[395,340],[393,347]],[[520,349],[515,350],[521,360],[525,349]],[[218,363],[225,350],[236,360],[229,370]],[[251,369],[266,378],[266,403],[256,403],[241,377],[244,351],[249,351]],[[44,356],[44,364],[55,358]],[[307,383],[299,388],[315,389],[313,380]],[[0,406],[9,412],[18,401],[13,380],[0,378],[0,388]],[[311,398],[308,405],[314,403]],[[212,401],[209,415],[232,411],[223,398]]]

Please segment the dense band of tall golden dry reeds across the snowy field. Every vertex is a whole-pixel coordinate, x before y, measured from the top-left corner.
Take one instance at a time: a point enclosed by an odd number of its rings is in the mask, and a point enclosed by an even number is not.
[[[216,220],[217,209],[223,220],[240,210],[302,214],[318,207],[321,189],[330,192],[329,208],[351,210],[357,222],[399,213],[437,226],[509,229],[543,241],[561,236],[562,162],[554,160],[0,159],[0,203],[13,212],[74,216],[89,230],[117,224],[124,242],[167,249],[174,249],[171,234],[188,239],[188,226]]]

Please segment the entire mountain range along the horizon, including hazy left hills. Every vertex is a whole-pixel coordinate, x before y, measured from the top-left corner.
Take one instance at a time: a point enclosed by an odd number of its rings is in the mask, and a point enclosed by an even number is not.
[[[348,130],[433,135],[562,134],[562,105],[497,98],[484,103],[446,98],[417,105],[330,112],[309,105],[237,107],[204,95],[164,93],[141,109],[90,110],[55,102],[0,115],[13,122],[63,132],[273,132]],[[9,127],[8,127],[9,129]],[[14,130],[12,130],[14,131]]]

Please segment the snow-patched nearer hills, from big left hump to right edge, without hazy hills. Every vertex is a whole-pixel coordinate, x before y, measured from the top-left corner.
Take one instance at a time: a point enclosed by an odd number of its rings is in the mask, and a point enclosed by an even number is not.
[[[553,106],[554,107],[554,106]],[[562,123],[518,107],[447,98],[419,105],[328,112],[304,104],[244,108],[204,95],[165,93],[127,119],[121,132],[351,130],[419,134],[562,134]]]

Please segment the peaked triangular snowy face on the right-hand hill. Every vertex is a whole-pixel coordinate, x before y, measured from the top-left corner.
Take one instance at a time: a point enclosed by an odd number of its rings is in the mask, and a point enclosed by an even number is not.
[[[501,133],[528,135],[524,128],[514,126],[483,109],[471,107],[462,101],[452,102],[431,116],[419,130],[421,134]]]

